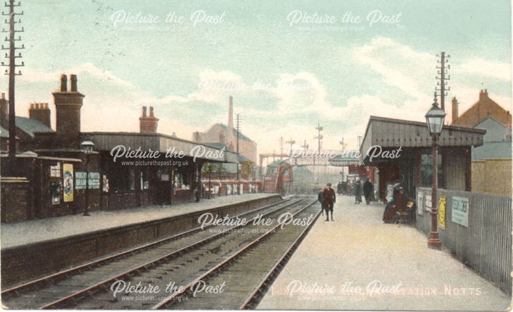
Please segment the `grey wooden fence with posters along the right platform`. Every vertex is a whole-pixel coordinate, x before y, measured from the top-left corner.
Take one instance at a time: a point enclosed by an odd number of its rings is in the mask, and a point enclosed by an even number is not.
[[[417,188],[417,228],[430,231],[431,189]],[[437,190],[443,246],[511,295],[511,197]]]

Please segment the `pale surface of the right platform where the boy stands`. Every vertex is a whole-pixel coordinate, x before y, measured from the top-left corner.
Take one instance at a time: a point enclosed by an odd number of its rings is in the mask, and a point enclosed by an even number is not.
[[[415,227],[383,224],[383,205],[338,199],[334,221],[315,222],[258,309],[509,309],[509,296],[427,248]]]

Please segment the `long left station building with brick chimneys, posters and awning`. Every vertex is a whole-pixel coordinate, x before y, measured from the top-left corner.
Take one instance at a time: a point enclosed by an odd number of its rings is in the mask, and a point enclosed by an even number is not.
[[[86,209],[86,202],[89,210],[98,210],[191,200],[195,183],[202,180],[203,163],[238,161],[236,153],[157,133],[152,107],[149,111],[143,107],[139,133],[82,132],[85,95],[77,90],[76,75],[70,80],[68,90],[63,74],[59,90],[52,93],[55,131],[50,128],[47,103],[31,103],[28,118],[16,116],[16,163],[8,162],[7,153],[0,155],[2,222],[77,214]],[[5,97],[0,103],[2,119],[7,120]],[[2,128],[8,129],[8,123]],[[2,150],[7,152],[4,129]],[[85,140],[94,143],[90,155],[81,147]],[[125,155],[129,150],[160,155],[150,159],[140,153],[114,161],[116,147],[126,149]],[[167,157],[170,150],[175,153]]]

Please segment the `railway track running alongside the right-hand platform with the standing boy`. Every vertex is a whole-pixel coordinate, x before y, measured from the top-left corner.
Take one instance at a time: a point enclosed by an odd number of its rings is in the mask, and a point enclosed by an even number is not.
[[[313,206],[315,202],[294,214],[299,219],[314,214],[310,224],[283,228],[280,224],[276,225],[273,228],[276,231],[255,238],[223,262],[190,281],[184,290],[173,293],[151,309],[255,308],[306,236],[313,221],[319,217],[321,212],[317,206]],[[223,285],[223,292],[203,292],[206,285]],[[179,296],[186,296],[187,300],[176,300]]]

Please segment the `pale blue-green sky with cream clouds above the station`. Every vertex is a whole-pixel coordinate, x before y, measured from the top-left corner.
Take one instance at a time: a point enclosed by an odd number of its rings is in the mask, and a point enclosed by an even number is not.
[[[450,55],[460,114],[479,90],[511,110],[508,1],[22,1],[16,114],[48,102],[62,73],[83,93],[82,131],[158,132],[192,139],[227,123],[228,97],[258,152],[279,139],[357,147],[370,115],[423,121]],[[158,20],[156,20],[158,17]],[[166,22],[167,19],[167,22]],[[7,76],[0,89],[7,90]],[[2,91],[6,92],[6,91]]]

